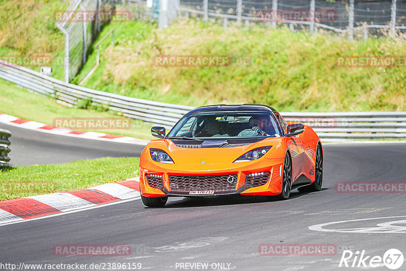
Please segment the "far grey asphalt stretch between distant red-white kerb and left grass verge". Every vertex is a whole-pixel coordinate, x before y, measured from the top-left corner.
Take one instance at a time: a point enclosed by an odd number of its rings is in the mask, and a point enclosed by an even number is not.
[[[59,164],[101,157],[139,157],[144,146],[88,140],[19,128],[0,123],[11,131],[9,157],[14,166]]]

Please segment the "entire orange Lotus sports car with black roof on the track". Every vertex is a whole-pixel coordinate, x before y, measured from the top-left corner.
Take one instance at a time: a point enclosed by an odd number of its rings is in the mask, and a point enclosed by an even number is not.
[[[145,147],[140,158],[144,205],[168,196],[278,195],[319,191],[323,149],[316,132],[287,124],[272,107],[216,105],[194,109]]]

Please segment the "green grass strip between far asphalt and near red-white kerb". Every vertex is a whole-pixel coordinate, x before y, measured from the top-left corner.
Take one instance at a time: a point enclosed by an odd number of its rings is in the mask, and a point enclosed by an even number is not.
[[[89,188],[139,176],[140,158],[100,158],[0,171],[0,200]]]

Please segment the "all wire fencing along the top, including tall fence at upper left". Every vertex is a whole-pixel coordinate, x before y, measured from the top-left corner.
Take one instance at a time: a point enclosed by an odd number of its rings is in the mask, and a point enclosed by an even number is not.
[[[100,14],[115,14],[116,5],[130,11],[131,19],[157,20],[159,28],[174,19],[194,14],[203,20],[267,23],[272,27],[288,24],[291,30],[319,28],[367,40],[373,34],[395,36],[406,30],[405,0],[74,0],[69,8],[55,17],[65,37],[64,81],[71,80],[86,62],[88,49],[109,20]],[[94,16],[72,20],[73,14]],[[65,18],[69,18],[65,20]],[[76,17],[75,17],[76,18]],[[98,19],[97,19],[98,18]]]

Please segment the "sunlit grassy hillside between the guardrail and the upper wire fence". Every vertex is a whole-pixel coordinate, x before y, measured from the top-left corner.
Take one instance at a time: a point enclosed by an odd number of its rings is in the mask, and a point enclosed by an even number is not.
[[[280,111],[406,110],[405,67],[336,65],[338,56],[406,55],[404,37],[350,42],[323,31],[310,35],[253,25],[224,30],[195,20],[181,20],[162,31],[142,22],[127,25],[120,26],[116,46],[106,50],[84,85],[192,106],[264,103]],[[156,66],[156,55],[226,55],[232,63]]]

